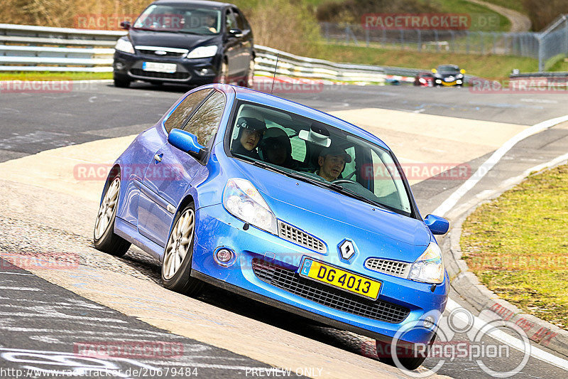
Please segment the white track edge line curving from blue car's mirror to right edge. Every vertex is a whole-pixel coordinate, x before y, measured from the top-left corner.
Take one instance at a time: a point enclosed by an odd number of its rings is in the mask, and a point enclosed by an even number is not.
[[[479,166],[479,169],[477,169],[475,174],[473,174],[471,178],[467,179],[465,183],[461,184],[461,186],[459,186],[459,188],[457,188],[457,190],[454,191],[454,193],[452,193],[449,198],[447,198],[442,204],[440,204],[439,207],[436,208],[434,212],[432,212],[432,214],[444,216],[449,210],[454,208],[459,199],[461,199],[467,193],[467,191],[471,190],[471,188],[474,188],[474,186],[481,180],[481,178],[483,178],[489,170],[493,169],[493,166],[495,166],[498,161],[503,158],[507,151],[515,146],[515,144],[527,137],[532,136],[532,134],[537,134],[538,132],[542,132],[545,129],[549,129],[550,127],[554,127],[555,125],[561,124],[562,122],[566,121],[568,121],[568,116],[549,119],[547,121],[533,125],[532,127],[523,130],[523,132],[516,134],[514,137],[505,142],[503,146],[501,146],[493,154],[491,154],[489,159],[487,159],[484,164],[481,164],[481,166]]]

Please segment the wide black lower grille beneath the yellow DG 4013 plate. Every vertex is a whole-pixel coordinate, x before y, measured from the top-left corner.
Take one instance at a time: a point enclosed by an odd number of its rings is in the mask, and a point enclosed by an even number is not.
[[[256,277],[263,282],[338,311],[392,324],[402,322],[410,313],[410,310],[404,306],[382,300],[367,300],[356,294],[350,294],[341,289],[335,289],[325,284],[302,278],[292,270],[274,265],[265,260],[255,258],[252,266]]]

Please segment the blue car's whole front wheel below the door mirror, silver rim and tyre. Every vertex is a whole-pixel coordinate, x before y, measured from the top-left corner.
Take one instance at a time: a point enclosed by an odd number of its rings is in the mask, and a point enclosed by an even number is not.
[[[193,242],[195,240],[195,207],[187,205],[175,217],[162,262],[162,282],[165,288],[182,294],[195,295],[203,282],[191,277]]]

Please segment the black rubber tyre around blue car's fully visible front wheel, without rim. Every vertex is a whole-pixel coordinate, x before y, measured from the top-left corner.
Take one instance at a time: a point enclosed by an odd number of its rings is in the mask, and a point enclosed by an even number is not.
[[[178,226],[178,221],[182,215],[186,215],[187,212],[190,212],[193,217],[193,231],[190,237],[189,247],[187,248],[187,252],[185,253],[185,257],[183,258],[181,265],[175,270],[173,275],[165,275],[166,270],[166,260],[173,259],[171,254],[177,254],[178,247],[180,243],[176,245],[175,252],[168,255],[168,247],[170,247],[170,240],[173,240],[173,233],[176,231],[176,227]],[[195,205],[193,203],[188,204],[183,210],[178,212],[175,215],[175,218],[172,223],[173,227],[170,230],[170,235],[168,235],[168,242],[165,244],[164,248],[164,256],[162,262],[162,283],[163,286],[167,289],[170,289],[174,292],[179,292],[180,294],[187,294],[189,296],[195,296],[200,294],[204,287],[204,283],[199,279],[191,276],[191,262],[193,257],[193,243],[195,242]],[[171,245],[173,248],[173,245]]]

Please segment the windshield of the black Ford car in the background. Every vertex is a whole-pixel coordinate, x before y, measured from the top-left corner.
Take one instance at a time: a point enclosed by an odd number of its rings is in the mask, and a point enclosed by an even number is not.
[[[190,5],[151,5],[138,17],[133,28],[212,35],[221,31],[221,11]]]

